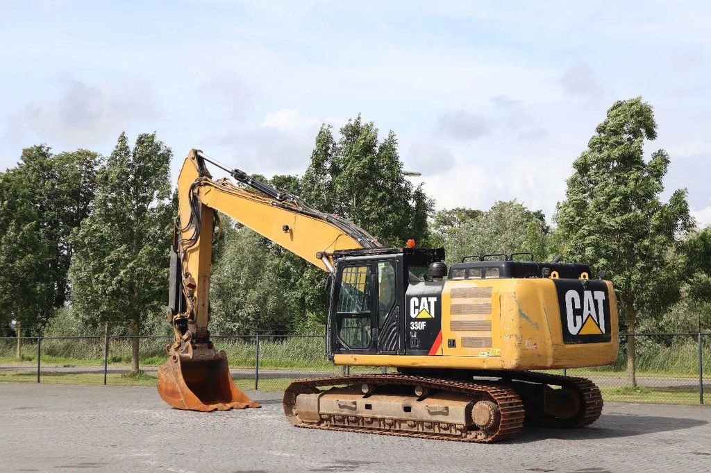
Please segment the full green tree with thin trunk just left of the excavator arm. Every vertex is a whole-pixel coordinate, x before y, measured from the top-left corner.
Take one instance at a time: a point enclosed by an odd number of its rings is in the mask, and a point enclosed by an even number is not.
[[[126,134],[98,175],[92,214],[73,234],[72,303],[87,325],[123,322],[130,327],[133,371],[145,321],[168,298],[172,237],[171,150],[155,134],[141,134],[129,148]]]

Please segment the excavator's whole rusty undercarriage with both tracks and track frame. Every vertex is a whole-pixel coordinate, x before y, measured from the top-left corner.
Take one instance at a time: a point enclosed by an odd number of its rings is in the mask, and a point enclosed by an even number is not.
[[[301,428],[497,442],[523,425],[577,428],[602,413],[592,381],[533,371],[400,369],[294,381],[284,413]]]

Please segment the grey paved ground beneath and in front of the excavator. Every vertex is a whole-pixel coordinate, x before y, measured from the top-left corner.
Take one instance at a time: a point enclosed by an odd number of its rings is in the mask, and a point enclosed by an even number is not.
[[[594,425],[525,428],[493,445],[294,428],[281,393],[261,409],[169,408],[154,388],[0,384],[9,472],[711,471],[711,408],[608,403]]]

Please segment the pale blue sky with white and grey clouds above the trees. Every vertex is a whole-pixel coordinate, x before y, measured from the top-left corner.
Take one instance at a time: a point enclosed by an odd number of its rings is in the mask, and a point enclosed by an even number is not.
[[[361,114],[438,209],[550,219],[606,109],[641,96],[711,224],[709,2],[0,0],[0,169],[156,131],[247,173],[302,174]]]

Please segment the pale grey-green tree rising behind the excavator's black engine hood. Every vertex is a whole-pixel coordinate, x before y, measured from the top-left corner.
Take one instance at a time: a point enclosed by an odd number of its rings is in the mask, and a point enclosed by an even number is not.
[[[530,251],[535,259],[548,256],[545,217],[515,200],[496,202],[486,212],[454,209],[438,216],[435,231],[441,235],[449,263],[471,254]]]

